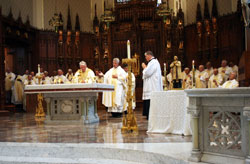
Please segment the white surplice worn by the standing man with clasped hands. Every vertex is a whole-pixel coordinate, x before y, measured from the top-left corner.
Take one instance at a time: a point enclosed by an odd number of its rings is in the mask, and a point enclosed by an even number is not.
[[[143,93],[142,99],[149,100],[154,91],[163,91],[161,66],[157,59],[151,59],[143,70]]]

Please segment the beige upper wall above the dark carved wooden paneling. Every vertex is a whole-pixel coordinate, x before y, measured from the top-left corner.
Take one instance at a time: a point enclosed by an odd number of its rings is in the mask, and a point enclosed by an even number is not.
[[[21,12],[23,22],[29,15],[31,25],[39,29],[52,29],[49,26],[49,20],[54,15],[55,10],[61,12],[64,20],[64,28],[66,28],[68,4],[71,9],[71,21],[74,29],[76,13],[79,14],[80,25],[82,31],[92,31],[92,22],[95,14],[95,4],[97,4],[97,16],[100,19],[104,11],[104,1],[106,6],[111,8],[114,6],[114,0],[0,0],[2,13],[9,14],[12,7],[13,16],[16,19],[19,11]],[[208,0],[208,6],[211,14],[212,1]],[[179,0],[170,0],[170,8],[176,13],[176,5]],[[197,3],[200,2],[202,15],[204,11],[204,0],[182,0],[182,9],[185,13],[185,24],[192,24],[196,21]],[[57,7],[55,7],[57,6]],[[228,14],[236,11],[237,0],[217,0],[219,15]]]

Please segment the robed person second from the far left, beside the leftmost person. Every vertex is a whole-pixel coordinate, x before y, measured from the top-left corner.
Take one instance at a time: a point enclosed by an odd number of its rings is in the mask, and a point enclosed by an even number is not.
[[[22,76],[18,75],[13,91],[12,91],[12,103],[13,104],[22,104],[23,103],[23,82],[22,82]]]

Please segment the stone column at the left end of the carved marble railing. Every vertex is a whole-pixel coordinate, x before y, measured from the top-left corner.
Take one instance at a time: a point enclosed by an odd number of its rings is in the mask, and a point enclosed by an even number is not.
[[[193,148],[189,161],[200,162],[201,161],[201,151],[199,147],[199,117],[200,117],[200,107],[199,98],[189,97],[188,114],[191,115],[192,120],[192,137],[193,137]]]

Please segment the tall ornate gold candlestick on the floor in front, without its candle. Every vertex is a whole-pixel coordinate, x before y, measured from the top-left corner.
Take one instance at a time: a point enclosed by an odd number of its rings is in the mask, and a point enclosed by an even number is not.
[[[136,123],[134,111],[132,109],[133,96],[132,96],[132,74],[131,74],[132,72],[131,66],[132,64],[136,63],[136,59],[123,59],[122,63],[128,64],[128,91],[127,91],[128,114],[126,116],[123,115],[122,133],[138,134],[138,126]]]

